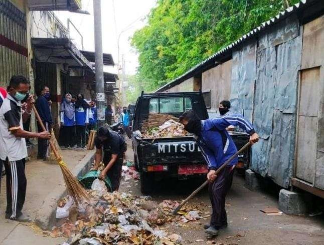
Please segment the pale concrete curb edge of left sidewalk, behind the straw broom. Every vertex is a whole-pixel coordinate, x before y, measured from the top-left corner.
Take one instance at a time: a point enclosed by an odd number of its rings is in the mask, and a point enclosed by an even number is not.
[[[74,176],[80,177],[86,174],[94,161],[95,151],[90,151],[85,157],[71,170]],[[44,199],[40,209],[36,213],[35,223],[42,229],[50,229],[56,222],[56,207],[58,200],[66,195],[65,185],[59,185],[50,192]]]

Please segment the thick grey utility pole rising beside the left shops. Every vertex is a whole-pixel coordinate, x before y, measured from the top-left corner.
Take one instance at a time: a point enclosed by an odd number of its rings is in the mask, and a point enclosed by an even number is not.
[[[96,63],[96,105],[98,127],[105,124],[105,85],[103,81],[102,33],[101,33],[101,0],[93,0],[94,20],[94,55]]]

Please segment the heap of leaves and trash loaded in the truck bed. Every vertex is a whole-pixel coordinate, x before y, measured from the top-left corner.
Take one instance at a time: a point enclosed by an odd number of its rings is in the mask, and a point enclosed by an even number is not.
[[[165,138],[186,136],[187,134],[188,132],[185,130],[183,124],[171,119],[158,127],[149,128],[142,134],[142,137]]]

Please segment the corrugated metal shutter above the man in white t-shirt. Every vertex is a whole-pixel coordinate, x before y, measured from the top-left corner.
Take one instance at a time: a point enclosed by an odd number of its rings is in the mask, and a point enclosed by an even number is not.
[[[0,0],[0,86],[11,76],[28,77],[26,15],[7,0]]]

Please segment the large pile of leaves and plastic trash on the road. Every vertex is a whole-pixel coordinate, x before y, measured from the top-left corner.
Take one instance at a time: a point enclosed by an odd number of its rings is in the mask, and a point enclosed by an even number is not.
[[[168,234],[159,228],[160,225],[201,218],[198,206],[185,205],[178,215],[172,215],[179,204],[177,201],[164,200],[157,204],[149,196],[111,193],[99,179],[93,182],[88,192],[91,201],[83,208],[77,208],[69,196],[62,198],[56,213],[60,221],[44,234],[69,237],[64,245],[173,245],[181,244],[181,236]]]

